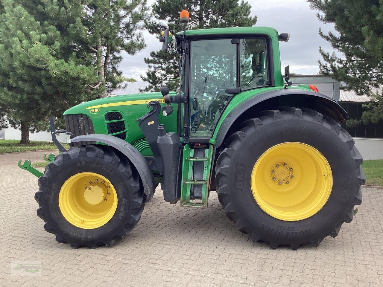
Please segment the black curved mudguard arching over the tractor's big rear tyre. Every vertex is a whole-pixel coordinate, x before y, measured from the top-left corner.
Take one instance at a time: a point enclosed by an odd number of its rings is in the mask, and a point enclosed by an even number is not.
[[[288,101],[289,99],[293,99],[293,96],[295,96],[295,99],[297,99],[296,97],[300,99],[300,102],[301,102],[299,104],[300,107],[306,107],[306,108],[310,108],[310,109],[314,109],[318,111],[318,109],[316,109],[315,106],[321,104],[322,105],[321,109],[325,109],[325,111],[328,113],[328,116],[330,116],[335,121],[342,123],[348,119],[348,115],[346,111],[337,103],[336,100],[334,100],[333,98],[330,98],[329,96],[322,95],[320,93],[311,92],[308,90],[298,90],[298,89],[274,90],[274,91],[262,93],[254,97],[247,98],[241,104],[239,104],[236,109],[233,109],[225,117],[224,121],[219,127],[214,145],[216,146],[216,148],[221,146],[232,124],[234,124],[235,121],[239,117],[241,117],[241,115],[244,114],[246,111],[249,111],[250,109],[254,108],[256,105],[262,104],[262,102],[265,102],[267,100],[270,100],[273,98],[277,100],[278,97],[279,97],[278,100],[283,100],[283,104],[281,104],[281,106],[288,106],[289,105]],[[311,106],[307,106],[308,103],[310,103]]]

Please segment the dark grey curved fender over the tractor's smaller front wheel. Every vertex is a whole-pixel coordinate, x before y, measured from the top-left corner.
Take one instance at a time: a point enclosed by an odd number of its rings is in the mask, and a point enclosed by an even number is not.
[[[144,193],[146,194],[146,200],[150,201],[154,195],[154,176],[153,173],[144,158],[144,156],[130,143],[113,137],[112,135],[103,134],[90,134],[90,135],[79,135],[71,140],[75,142],[98,142],[109,145],[115,148],[119,152],[123,153],[129,161],[137,169],[138,174],[141,178],[142,185],[144,187]]]

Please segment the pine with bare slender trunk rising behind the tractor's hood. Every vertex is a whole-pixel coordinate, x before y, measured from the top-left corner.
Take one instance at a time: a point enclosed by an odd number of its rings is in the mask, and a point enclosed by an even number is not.
[[[87,33],[81,40],[97,58],[99,85],[105,86],[103,97],[121,86],[121,51],[135,55],[146,47],[142,37],[142,24],[149,17],[146,0],[90,0],[84,5],[83,24]]]

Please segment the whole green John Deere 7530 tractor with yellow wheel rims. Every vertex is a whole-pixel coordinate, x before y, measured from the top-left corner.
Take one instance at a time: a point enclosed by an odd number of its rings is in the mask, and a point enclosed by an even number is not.
[[[365,177],[347,113],[315,86],[283,80],[268,27],[165,29],[180,87],[112,96],[64,113],[61,151],[39,176],[37,215],[75,248],[111,246],[138,223],[160,184],[164,200],[206,208],[216,191],[235,226],[272,248],[318,246],[350,223]],[[56,134],[70,136],[65,150]],[[158,191],[157,191],[158,192]]]

